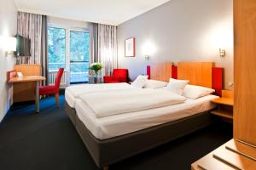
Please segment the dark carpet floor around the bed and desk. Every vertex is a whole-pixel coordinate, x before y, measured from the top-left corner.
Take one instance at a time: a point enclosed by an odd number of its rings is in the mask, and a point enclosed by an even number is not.
[[[0,169],[97,170],[79,134],[55,98],[41,99],[39,114],[33,104],[14,105],[0,123]],[[216,121],[181,139],[148,150],[109,167],[109,170],[189,170],[190,164],[232,138],[232,125]]]

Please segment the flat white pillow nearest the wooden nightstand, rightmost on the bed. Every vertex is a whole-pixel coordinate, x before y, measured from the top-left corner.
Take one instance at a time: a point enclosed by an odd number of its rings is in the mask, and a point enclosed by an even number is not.
[[[185,96],[186,98],[189,98],[189,99],[198,99],[198,98],[201,98],[203,96],[212,94],[213,92],[215,92],[215,90],[212,89],[212,88],[205,88],[205,87],[201,87],[201,86],[187,85],[184,88],[183,96]]]

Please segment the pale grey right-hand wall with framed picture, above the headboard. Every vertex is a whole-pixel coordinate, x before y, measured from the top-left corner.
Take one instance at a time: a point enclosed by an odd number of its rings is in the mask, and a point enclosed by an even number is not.
[[[126,38],[136,37],[136,57],[125,58]],[[224,67],[225,87],[233,82],[233,1],[171,0],[118,26],[119,67],[131,79],[145,72],[143,45],[155,48],[149,63],[214,61]],[[218,48],[226,49],[224,59]]]

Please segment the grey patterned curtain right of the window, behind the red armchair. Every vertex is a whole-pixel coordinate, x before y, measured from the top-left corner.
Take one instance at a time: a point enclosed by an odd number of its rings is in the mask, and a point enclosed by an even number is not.
[[[90,23],[90,64],[101,62],[102,75],[111,75],[117,68],[116,26]]]

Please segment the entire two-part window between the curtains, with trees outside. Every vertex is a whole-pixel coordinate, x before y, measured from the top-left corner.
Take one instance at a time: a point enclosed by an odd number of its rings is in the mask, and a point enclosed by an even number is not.
[[[65,68],[62,85],[88,82],[89,42],[85,29],[48,27],[49,85],[55,83],[59,68]]]

